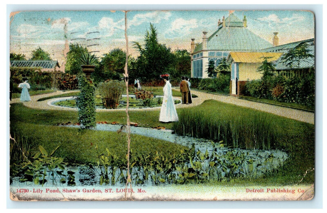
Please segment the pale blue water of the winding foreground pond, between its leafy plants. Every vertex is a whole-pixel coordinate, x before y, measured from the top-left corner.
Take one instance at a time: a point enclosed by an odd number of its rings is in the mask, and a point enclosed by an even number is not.
[[[77,125],[69,125],[67,128],[79,128]],[[97,124],[95,130],[97,131],[117,131],[121,128],[120,125],[111,125],[111,124]],[[229,149],[223,147],[219,142],[213,142],[211,140],[202,139],[202,138],[192,138],[187,136],[180,136],[177,134],[173,134],[171,130],[158,130],[151,128],[142,128],[142,127],[133,127],[131,126],[131,133],[144,135],[148,137],[153,137],[157,139],[162,139],[165,141],[169,141],[172,143],[181,144],[183,146],[191,148],[194,146],[196,154],[196,161],[201,162],[200,170],[209,171],[207,174],[214,175],[213,180],[222,181],[228,180],[230,176],[232,177],[249,177],[258,178],[267,172],[273,172],[278,170],[281,166],[283,166],[284,161],[288,158],[287,153],[279,150],[240,150],[240,149]],[[199,160],[203,156],[211,156],[206,159]],[[215,156],[215,160],[213,158]],[[218,162],[215,164],[215,168],[210,167],[209,165],[213,164],[213,162]],[[184,168],[192,169],[190,161],[185,161]],[[212,166],[212,165],[211,165]],[[110,170],[111,167],[108,167]],[[115,168],[116,170],[113,172],[114,181],[109,181],[110,185],[116,186],[124,186],[126,181],[124,177],[126,177],[126,170],[119,168]],[[67,171],[71,172],[74,175],[74,181],[69,184],[69,180],[67,179]],[[63,172],[67,176],[64,182],[61,182],[62,176],[52,175],[50,172],[47,174],[48,182],[45,183],[47,186],[52,186],[55,184],[56,186],[100,186],[101,180],[101,171],[104,171],[103,166],[94,166],[94,165],[68,165],[66,166],[66,170]],[[174,170],[170,174],[178,178],[182,178],[181,175],[184,175],[182,170]],[[156,174],[154,170],[149,171],[149,175],[146,180],[144,180],[144,168],[142,167],[134,167],[132,169],[132,182],[133,184],[151,186],[154,184],[163,184],[166,185],[168,181],[164,183],[160,183],[158,181],[153,181]],[[205,174],[205,172],[202,172]],[[141,177],[143,175],[143,180],[141,181]],[[161,174],[162,177],[167,178],[167,175]],[[19,180],[23,178],[23,174],[19,177],[11,177],[11,184],[14,186],[33,186],[34,183],[20,182]],[[54,180],[52,180],[54,179]],[[108,179],[112,179],[112,175],[108,176]],[[175,179],[175,181],[177,180]],[[170,180],[172,181],[172,180]],[[177,182],[175,182],[177,183]]]

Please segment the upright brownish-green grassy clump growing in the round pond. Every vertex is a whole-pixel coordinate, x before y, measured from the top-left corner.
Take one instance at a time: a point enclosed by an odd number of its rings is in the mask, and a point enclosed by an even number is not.
[[[118,80],[101,82],[97,87],[106,109],[117,109],[124,89],[125,83]]]

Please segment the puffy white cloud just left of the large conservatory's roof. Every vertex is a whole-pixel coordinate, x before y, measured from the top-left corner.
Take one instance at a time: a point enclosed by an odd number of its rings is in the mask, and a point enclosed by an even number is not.
[[[189,34],[192,28],[197,28],[198,22],[196,19],[185,20],[178,18],[171,23],[171,27],[166,31],[166,34]]]

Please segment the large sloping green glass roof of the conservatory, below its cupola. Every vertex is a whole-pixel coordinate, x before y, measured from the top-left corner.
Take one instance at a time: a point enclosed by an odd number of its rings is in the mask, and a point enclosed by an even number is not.
[[[272,44],[246,27],[219,27],[207,40],[208,50],[257,51],[269,47],[272,47]],[[200,50],[202,50],[202,43],[195,48],[194,52]]]

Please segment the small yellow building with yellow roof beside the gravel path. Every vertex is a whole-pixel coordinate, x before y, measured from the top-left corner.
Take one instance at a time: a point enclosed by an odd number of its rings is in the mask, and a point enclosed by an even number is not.
[[[257,69],[262,65],[264,57],[269,57],[267,61],[273,62],[278,60],[282,54],[276,52],[230,52],[227,57],[227,62],[231,63],[230,95],[242,95],[247,81],[261,79],[262,74]]]

